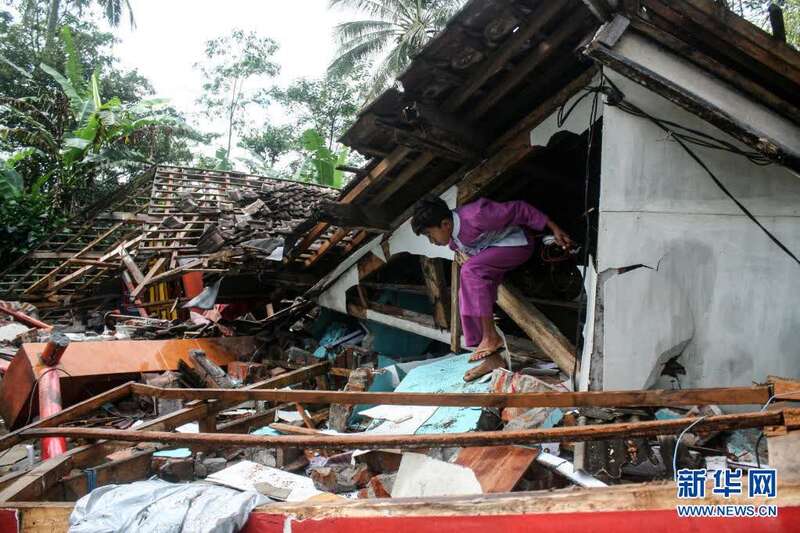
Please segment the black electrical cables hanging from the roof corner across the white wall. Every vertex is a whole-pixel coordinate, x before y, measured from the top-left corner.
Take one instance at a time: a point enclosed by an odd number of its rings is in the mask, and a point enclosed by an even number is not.
[[[677,142],[681,148],[691,157],[694,161],[700,165],[700,167],[706,171],[712,181],[716,184],[716,186],[728,197],[730,200],[736,204],[742,213],[744,213],[747,218],[749,218],[756,226],[758,226],[764,234],[769,237],[769,239],[775,243],[781,250],[783,250],[786,255],[791,257],[798,265],[800,265],[800,259],[791,251],[789,248],[786,247],[783,242],[780,241],[772,232],[770,232],[766,227],[764,227],[761,222],[750,212],[747,207],[744,206],[734,195],[731,193],[725,184],[720,181],[720,179],[711,171],[711,169],[706,165],[706,163],[698,156],[695,152],[693,152],[688,144],[694,144],[703,148],[711,148],[714,150],[724,150],[727,152],[731,152],[737,155],[741,155],[747,158],[751,163],[759,166],[765,166],[772,164],[772,161],[767,159],[763,154],[758,152],[750,152],[747,150],[741,150],[740,148],[736,147],[735,145],[724,141],[722,139],[718,139],[706,133],[703,133],[698,130],[694,130],[691,128],[687,128],[685,126],[681,126],[675,122],[671,122],[668,120],[656,118],[646,111],[643,111],[641,108],[637,107],[635,104],[632,104],[625,100],[624,94],[614,85],[611,80],[608,80],[604,77],[613,89],[613,93],[610,95],[606,105],[616,107],[625,113],[628,113],[633,116],[637,116],[640,118],[644,118],[658,126],[661,130],[663,130],[667,135],[669,135],[672,139]],[[686,133],[688,132],[688,133]]]

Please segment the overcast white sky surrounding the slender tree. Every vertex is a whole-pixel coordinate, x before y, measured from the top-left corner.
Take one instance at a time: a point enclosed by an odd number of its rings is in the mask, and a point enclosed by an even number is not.
[[[190,123],[219,133],[224,125],[210,123],[195,104],[203,80],[193,65],[203,61],[206,41],[235,28],[272,38],[280,46],[275,61],[281,74],[276,82],[285,86],[299,77],[325,73],[335,51],[333,27],[348,17],[339,9],[329,10],[328,0],[133,0],[131,4],[136,27],[131,29],[126,17],[112,30],[120,40],[114,49],[120,66],[138,69],[156,96],[168,98]],[[276,121],[285,120],[274,106],[270,114]],[[213,149],[203,151],[213,153]],[[244,154],[239,150],[233,155]]]

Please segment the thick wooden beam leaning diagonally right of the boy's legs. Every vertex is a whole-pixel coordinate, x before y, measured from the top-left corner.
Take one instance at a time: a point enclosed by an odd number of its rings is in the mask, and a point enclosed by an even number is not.
[[[508,282],[497,290],[497,305],[508,314],[530,339],[553,360],[565,374],[572,376],[577,367],[575,347],[544,313],[525,300]]]

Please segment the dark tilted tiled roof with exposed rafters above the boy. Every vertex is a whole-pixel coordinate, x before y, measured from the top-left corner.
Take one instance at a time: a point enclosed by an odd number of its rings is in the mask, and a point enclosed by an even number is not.
[[[384,92],[345,133],[342,141],[372,160],[343,191],[337,212],[304,227],[289,256],[303,257],[306,267],[326,255],[337,264],[370,234],[397,228],[423,194],[459,183],[460,202],[478,196],[540,149],[529,132],[589,85],[599,65],[800,171],[796,148],[612,53],[626,32],[800,125],[800,53],[722,3],[473,0],[399,77],[402,90]]]

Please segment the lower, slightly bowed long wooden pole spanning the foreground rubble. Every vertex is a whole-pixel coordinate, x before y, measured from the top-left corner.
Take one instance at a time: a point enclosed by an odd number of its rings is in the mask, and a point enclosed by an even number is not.
[[[240,435],[235,433],[171,433],[164,431],[130,431],[101,428],[55,427],[31,429],[34,437],[72,437],[112,439],[125,442],[163,442],[167,444],[219,447],[269,447],[314,449],[382,449],[442,448],[452,446],[533,445],[546,442],[585,442],[619,437],[652,437],[672,435],[694,424],[698,432],[728,431],[781,425],[782,411],[758,411],[703,419],[680,418],[586,426],[567,426],[520,431],[475,431],[468,433],[435,433],[428,435]],[[60,458],[59,458],[60,459]]]

